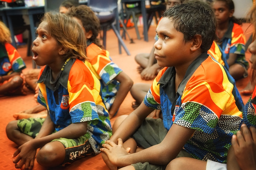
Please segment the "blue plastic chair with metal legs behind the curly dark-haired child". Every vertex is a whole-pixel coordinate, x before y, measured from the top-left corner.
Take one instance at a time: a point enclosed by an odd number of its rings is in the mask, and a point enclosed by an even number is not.
[[[88,0],[87,5],[99,18],[100,26],[103,30],[103,46],[106,48],[107,29],[111,27],[118,38],[119,54],[121,54],[121,46],[123,46],[127,55],[131,55],[120,35],[117,0]],[[115,25],[115,23],[117,24]]]

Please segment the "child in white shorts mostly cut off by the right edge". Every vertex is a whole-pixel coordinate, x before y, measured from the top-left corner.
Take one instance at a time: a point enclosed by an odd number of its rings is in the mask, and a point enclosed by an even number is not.
[[[256,4],[253,5],[249,11],[249,18],[255,27],[256,32]],[[249,52],[252,54],[250,61],[252,62],[252,70],[250,80],[256,83],[256,38],[248,47]],[[171,161],[166,170],[247,170],[256,169],[256,113],[255,113],[255,95],[256,87],[252,93],[251,98],[246,103],[243,109],[244,123],[240,131],[232,136],[232,146],[228,152],[227,164],[218,163],[208,160],[201,161],[194,158],[176,158]],[[247,125],[247,126],[246,126]],[[249,127],[249,128],[248,128]]]

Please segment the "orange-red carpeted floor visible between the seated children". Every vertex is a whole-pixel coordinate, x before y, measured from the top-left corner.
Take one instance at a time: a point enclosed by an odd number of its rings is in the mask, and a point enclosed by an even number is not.
[[[246,30],[249,24],[244,24],[243,29]],[[130,37],[133,39],[134,43],[130,43],[129,39],[124,40],[125,44],[127,45],[131,56],[128,56],[125,51],[122,49],[122,54],[118,54],[118,44],[117,38],[112,30],[109,30],[107,33],[107,45],[106,49],[110,52],[110,56],[113,59],[113,62],[116,63],[121,69],[124,70],[134,81],[134,83],[138,82],[147,82],[151,83],[152,81],[144,81],[140,79],[140,75],[136,71],[136,67],[138,66],[134,61],[134,56],[141,52],[149,52],[154,44],[154,35],[155,35],[155,26],[151,26],[148,33],[149,41],[145,42],[143,40],[143,30],[142,27],[139,26],[140,36],[142,39],[138,40],[136,37],[135,29],[130,28],[128,29],[128,33]],[[245,35],[248,38],[251,34],[252,29],[249,28],[246,30]],[[32,57],[26,56],[26,46],[19,47],[18,52],[24,59],[27,68],[24,72],[32,69]],[[246,53],[246,58],[249,59],[250,54]],[[238,90],[243,89],[246,84],[248,83],[249,79],[239,80],[237,82]],[[17,113],[21,110],[29,109],[33,106],[36,106],[37,103],[33,98],[33,93],[29,93],[26,96],[10,96],[10,97],[0,97],[0,106],[1,106],[1,119],[0,119],[0,153],[1,153],[1,160],[0,160],[0,169],[4,170],[14,170],[14,164],[12,163],[12,154],[17,149],[15,143],[8,140],[5,127],[8,122],[14,120],[12,114]],[[247,102],[249,96],[242,96],[244,103]],[[116,117],[124,114],[129,114],[132,112],[132,97],[130,93],[125,98],[124,102],[122,103],[118,114]],[[116,117],[111,119],[111,124],[115,121]],[[42,167],[35,165],[34,169],[43,169]],[[101,155],[97,155],[94,157],[83,158],[75,163],[66,166],[66,167],[58,167],[58,168],[49,168],[49,169],[90,169],[90,170],[106,170],[108,167],[103,162]]]

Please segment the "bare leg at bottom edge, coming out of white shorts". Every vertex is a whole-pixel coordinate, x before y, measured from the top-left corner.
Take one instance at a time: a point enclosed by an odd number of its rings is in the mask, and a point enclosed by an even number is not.
[[[180,157],[173,159],[165,170],[206,170],[206,163],[195,158]]]

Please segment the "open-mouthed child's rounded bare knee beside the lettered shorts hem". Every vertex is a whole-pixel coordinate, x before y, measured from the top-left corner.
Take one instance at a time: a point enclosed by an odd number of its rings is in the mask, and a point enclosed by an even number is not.
[[[42,166],[59,166],[66,156],[65,147],[59,141],[44,145],[37,153],[37,162]]]

